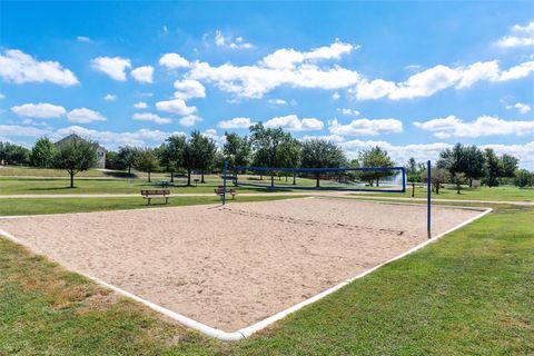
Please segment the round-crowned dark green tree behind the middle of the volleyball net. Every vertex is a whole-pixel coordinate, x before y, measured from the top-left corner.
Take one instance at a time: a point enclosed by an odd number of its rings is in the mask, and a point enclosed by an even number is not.
[[[304,168],[339,168],[346,165],[347,158],[342,148],[325,139],[310,139],[303,142],[300,165]],[[315,174],[318,188],[320,172]]]

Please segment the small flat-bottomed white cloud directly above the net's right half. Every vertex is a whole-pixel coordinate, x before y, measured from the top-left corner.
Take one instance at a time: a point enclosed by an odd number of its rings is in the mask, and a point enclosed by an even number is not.
[[[342,136],[376,136],[403,131],[403,122],[396,119],[356,119],[342,125],[334,119],[329,126],[330,134]]]

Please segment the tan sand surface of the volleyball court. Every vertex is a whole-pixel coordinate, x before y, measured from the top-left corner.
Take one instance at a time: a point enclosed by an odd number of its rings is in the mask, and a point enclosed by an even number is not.
[[[439,234],[479,211],[433,208]],[[67,268],[234,332],[426,239],[425,207],[305,198],[1,219]]]

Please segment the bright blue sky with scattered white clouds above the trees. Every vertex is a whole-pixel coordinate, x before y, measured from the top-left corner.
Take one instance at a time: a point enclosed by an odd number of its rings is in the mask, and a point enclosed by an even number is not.
[[[534,2],[0,2],[0,139],[156,146],[251,122],[397,162],[534,169]]]

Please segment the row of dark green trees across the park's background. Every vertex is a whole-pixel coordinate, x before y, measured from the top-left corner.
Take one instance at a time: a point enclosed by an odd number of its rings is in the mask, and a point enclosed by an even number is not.
[[[205,172],[220,171],[224,161],[229,167],[288,167],[288,168],[342,168],[342,167],[393,167],[394,160],[383,148],[369,147],[359,152],[356,159],[348,159],[339,147],[326,139],[309,139],[300,141],[281,128],[267,128],[261,122],[249,128],[249,135],[240,136],[225,132],[225,144],[219,149],[217,142],[199,131],[189,136],[169,136],[159,147],[141,148],[132,146],[119,147],[117,151],[108,151],[106,168],[131,169],[147,172],[148,181],[151,172],[166,171],[170,180],[175,175],[187,177],[191,185],[191,174],[200,174],[205,181]],[[62,145],[53,145],[43,137],[36,141],[33,148],[9,142],[0,142],[0,161],[7,164],[26,164],[36,167],[65,169],[71,177],[71,186],[77,172],[90,169],[97,160],[98,145],[91,140],[73,139]],[[437,181],[436,192],[444,182],[473,185],[482,180],[490,187],[503,182],[514,182],[520,187],[534,185],[534,172],[517,169],[518,159],[511,155],[497,156],[493,149],[481,150],[476,146],[455,145],[452,149],[441,152],[433,167],[433,182]],[[417,182],[426,179],[426,167],[411,158],[406,165],[407,180]],[[266,171],[274,185],[275,176],[280,172]],[[378,185],[379,180],[395,175],[395,171],[369,171],[355,174],[357,179],[367,181],[369,186]],[[295,182],[295,174],[294,182]],[[316,186],[319,186],[320,174],[315,174]],[[510,179],[513,179],[512,181]]]

